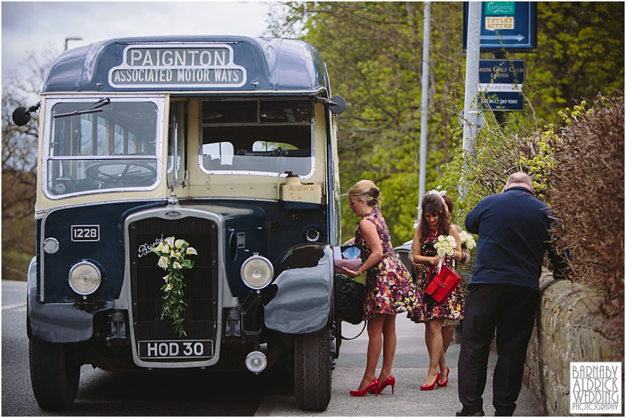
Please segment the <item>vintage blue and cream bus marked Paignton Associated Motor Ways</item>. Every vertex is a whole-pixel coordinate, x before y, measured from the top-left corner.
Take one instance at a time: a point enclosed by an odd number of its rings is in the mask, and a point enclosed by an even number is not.
[[[259,373],[283,359],[300,408],[325,410],[344,108],[298,40],[123,38],[59,56],[28,275],[40,407],[72,405],[81,364]]]

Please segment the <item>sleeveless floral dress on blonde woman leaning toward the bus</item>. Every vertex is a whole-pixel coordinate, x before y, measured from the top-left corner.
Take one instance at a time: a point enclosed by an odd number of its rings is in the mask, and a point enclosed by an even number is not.
[[[374,314],[399,314],[409,312],[410,315],[422,314],[422,300],[415,289],[415,284],[406,267],[396,257],[392,248],[389,230],[385,219],[377,207],[363,219],[376,226],[376,231],[383,245],[383,258],[378,264],[365,271],[365,319]],[[371,248],[361,235],[359,224],[355,232],[355,243],[360,243],[365,259],[371,255]]]

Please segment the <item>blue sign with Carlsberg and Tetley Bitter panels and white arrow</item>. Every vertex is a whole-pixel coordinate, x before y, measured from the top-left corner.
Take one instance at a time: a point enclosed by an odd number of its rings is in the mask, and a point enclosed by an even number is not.
[[[537,3],[482,1],[481,52],[531,51],[537,47]],[[467,14],[463,3],[463,51],[467,51]]]

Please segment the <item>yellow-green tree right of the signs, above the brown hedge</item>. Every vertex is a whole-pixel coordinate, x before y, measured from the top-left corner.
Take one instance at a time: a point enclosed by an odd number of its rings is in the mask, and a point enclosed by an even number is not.
[[[541,125],[581,99],[624,90],[623,2],[540,2],[537,15],[537,50],[522,58]]]

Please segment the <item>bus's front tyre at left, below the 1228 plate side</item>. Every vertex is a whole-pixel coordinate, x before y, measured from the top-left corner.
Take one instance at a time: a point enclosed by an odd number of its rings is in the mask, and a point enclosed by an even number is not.
[[[65,410],[78,392],[81,365],[67,344],[29,340],[31,384],[42,410]]]

